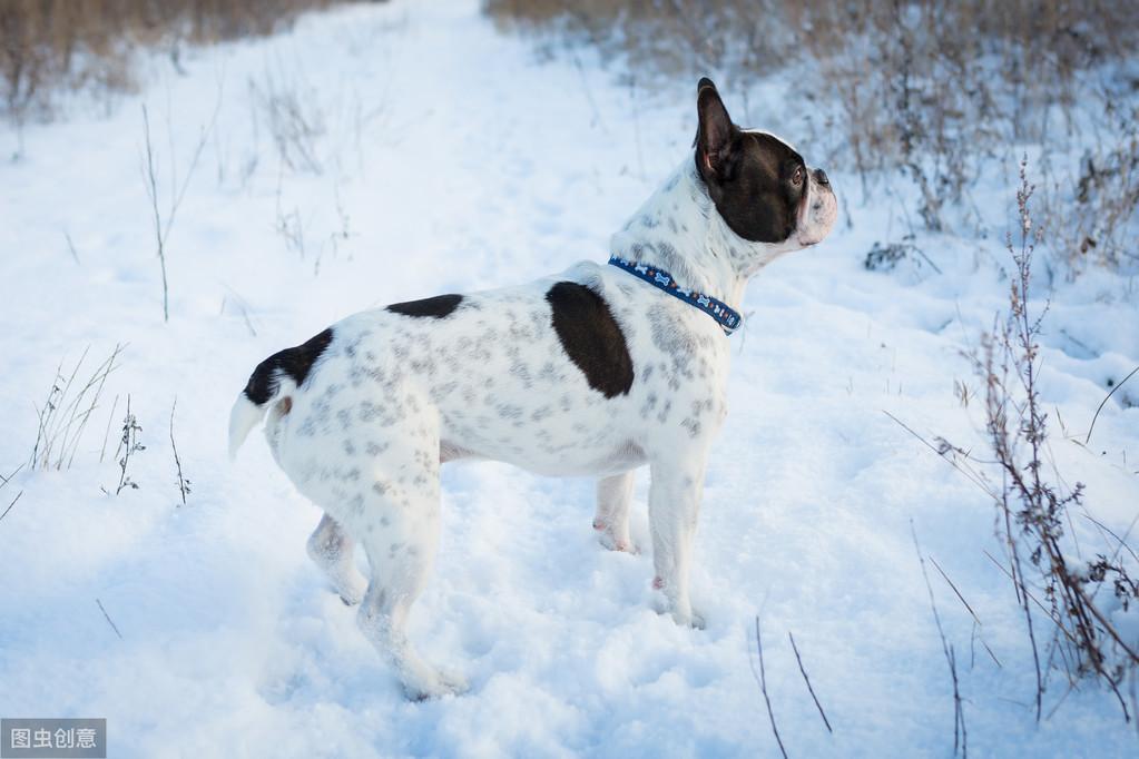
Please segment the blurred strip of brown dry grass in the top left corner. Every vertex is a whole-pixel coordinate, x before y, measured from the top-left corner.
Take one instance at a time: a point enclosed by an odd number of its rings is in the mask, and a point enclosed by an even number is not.
[[[306,10],[338,0],[3,0],[0,2],[0,115],[16,123],[50,116],[60,91],[129,90],[131,56],[182,43],[270,34]]]

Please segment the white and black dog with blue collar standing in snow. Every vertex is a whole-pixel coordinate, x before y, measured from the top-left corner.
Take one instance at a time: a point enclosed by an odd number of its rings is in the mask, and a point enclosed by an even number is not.
[[[837,204],[794,148],[732,124],[706,79],[697,112],[695,154],[613,236],[615,265],[354,314],[263,361],[233,405],[230,454],[268,411],[277,463],[326,512],[310,555],[362,602],[361,630],[412,698],[466,687],[405,635],[439,548],[440,464],[456,459],[597,477],[593,528],[617,551],[648,464],[653,584],[677,624],[702,625],[688,570],[732,306],[765,264],[822,240]]]

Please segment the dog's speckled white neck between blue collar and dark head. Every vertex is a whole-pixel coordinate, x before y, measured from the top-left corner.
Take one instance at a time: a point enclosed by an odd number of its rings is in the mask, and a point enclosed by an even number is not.
[[[653,264],[738,310],[747,280],[784,250],[731,231],[689,155],[613,236],[611,253]]]

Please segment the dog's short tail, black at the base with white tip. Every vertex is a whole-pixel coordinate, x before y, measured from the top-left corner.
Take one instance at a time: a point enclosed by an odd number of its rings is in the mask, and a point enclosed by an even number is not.
[[[229,412],[230,460],[237,456],[245,438],[264,419],[269,404],[290,397],[304,383],[313,364],[331,341],[333,330],[329,328],[306,343],[274,353],[257,364]]]

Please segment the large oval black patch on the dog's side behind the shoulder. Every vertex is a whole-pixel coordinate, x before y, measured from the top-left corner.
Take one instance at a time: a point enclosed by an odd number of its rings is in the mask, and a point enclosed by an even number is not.
[[[606,398],[628,395],[633,360],[605,299],[575,282],[558,282],[546,299],[554,310],[554,331],[589,386]]]

